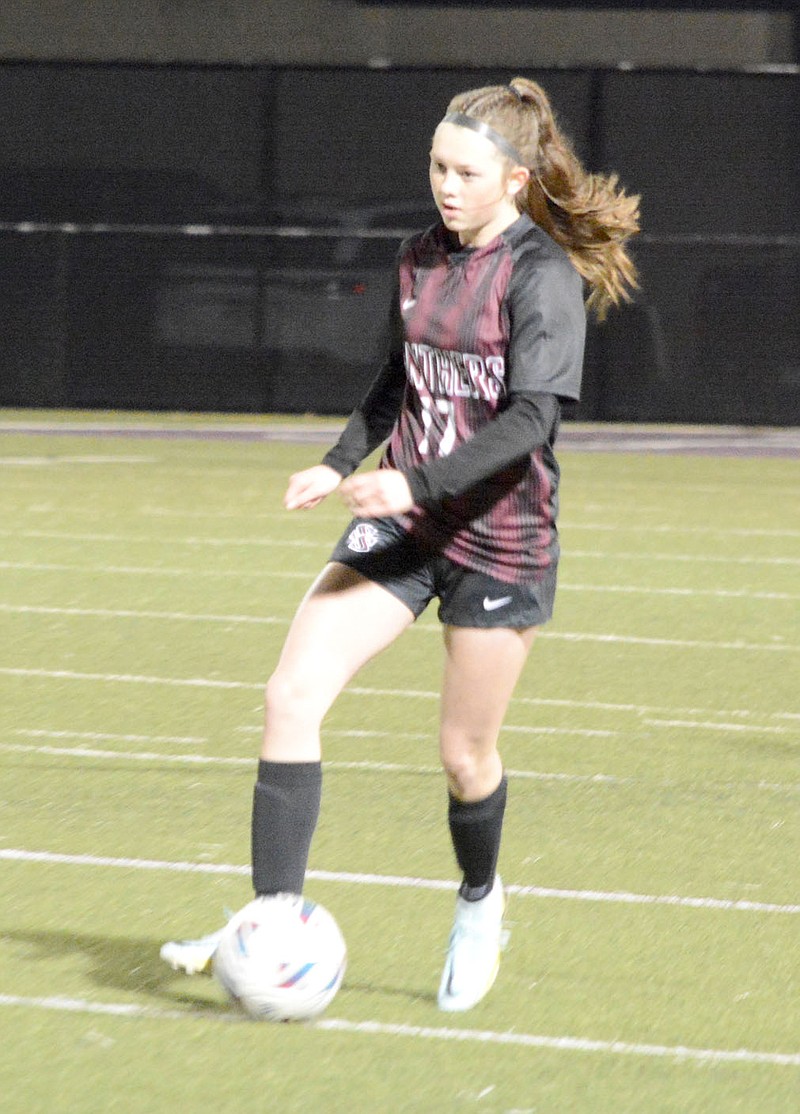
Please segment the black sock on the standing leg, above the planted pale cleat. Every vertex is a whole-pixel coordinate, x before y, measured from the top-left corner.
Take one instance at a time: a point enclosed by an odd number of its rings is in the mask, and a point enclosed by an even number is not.
[[[507,788],[504,774],[494,793],[482,801],[459,801],[449,794],[450,837],[464,871],[459,893],[467,901],[479,901],[495,883]]]

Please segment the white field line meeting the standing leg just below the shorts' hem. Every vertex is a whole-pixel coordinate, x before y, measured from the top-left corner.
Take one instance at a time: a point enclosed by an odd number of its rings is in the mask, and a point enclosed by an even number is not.
[[[179,620],[191,623],[236,623],[254,624],[262,626],[287,626],[291,619],[281,618],[275,615],[206,615],[186,612],[147,612],[147,610],[121,610],[101,607],[40,607],[22,604],[0,604],[0,612],[7,614],[40,614],[40,615],[75,615],[96,618],[146,618]],[[412,631],[421,631],[426,634],[438,634],[440,627],[435,623],[417,623]],[[778,654],[800,653],[800,645],[783,642],[713,642],[711,639],[696,638],[645,638],[636,635],[622,634],[593,634],[582,631],[543,631],[539,638],[548,642],[589,642],[611,643],[631,646],[667,646],[681,649],[734,649],[747,652],[768,652]]]

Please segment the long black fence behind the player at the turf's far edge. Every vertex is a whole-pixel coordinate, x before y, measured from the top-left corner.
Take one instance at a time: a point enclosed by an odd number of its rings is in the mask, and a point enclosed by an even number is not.
[[[430,134],[510,76],[0,67],[0,404],[347,412]],[[643,195],[578,417],[800,422],[800,76],[530,76]]]

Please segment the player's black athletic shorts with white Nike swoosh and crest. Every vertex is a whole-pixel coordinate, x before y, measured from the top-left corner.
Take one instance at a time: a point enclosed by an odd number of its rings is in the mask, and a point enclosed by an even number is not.
[[[536,583],[507,584],[423,551],[393,518],[354,518],[331,560],[380,584],[414,618],[435,596],[439,618],[450,626],[521,629],[540,626],[553,615],[555,568]]]

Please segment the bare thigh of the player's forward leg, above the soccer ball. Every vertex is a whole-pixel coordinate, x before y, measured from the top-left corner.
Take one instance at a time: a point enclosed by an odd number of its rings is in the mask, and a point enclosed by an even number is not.
[[[330,703],[413,623],[402,600],[347,565],[326,565],[302,600],[267,685],[273,697]]]

